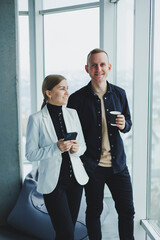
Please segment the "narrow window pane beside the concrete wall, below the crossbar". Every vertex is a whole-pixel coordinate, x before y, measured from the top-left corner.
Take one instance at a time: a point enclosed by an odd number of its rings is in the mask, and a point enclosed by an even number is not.
[[[25,159],[26,126],[30,108],[30,65],[29,65],[29,23],[28,16],[19,16],[19,56],[20,56],[20,106],[21,106],[21,144],[24,162],[24,177],[32,165]]]

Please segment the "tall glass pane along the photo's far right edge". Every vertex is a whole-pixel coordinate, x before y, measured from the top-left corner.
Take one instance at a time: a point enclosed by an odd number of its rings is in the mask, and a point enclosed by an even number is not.
[[[151,199],[150,216],[152,223],[160,228],[160,1],[155,0],[154,19],[154,68],[152,105],[152,155],[151,155]]]

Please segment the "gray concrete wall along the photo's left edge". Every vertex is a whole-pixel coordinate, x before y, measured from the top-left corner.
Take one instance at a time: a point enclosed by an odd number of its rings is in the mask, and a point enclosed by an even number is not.
[[[0,0],[0,225],[21,186],[17,95],[16,0]]]

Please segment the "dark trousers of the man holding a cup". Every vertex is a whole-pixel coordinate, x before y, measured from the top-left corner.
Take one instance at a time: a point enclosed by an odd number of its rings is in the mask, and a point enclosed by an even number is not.
[[[98,166],[85,186],[87,210],[86,225],[90,240],[101,240],[100,215],[103,210],[104,185],[108,185],[118,213],[119,237],[133,240],[134,206],[130,175],[126,167],[113,174],[112,168]]]

